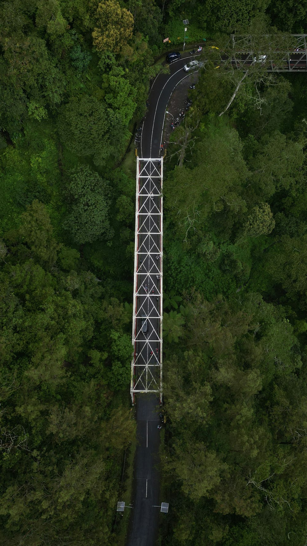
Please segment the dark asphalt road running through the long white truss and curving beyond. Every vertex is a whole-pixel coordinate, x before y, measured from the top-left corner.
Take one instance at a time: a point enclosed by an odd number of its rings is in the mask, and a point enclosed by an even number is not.
[[[183,69],[191,57],[189,52],[179,61],[170,65],[170,74],[160,74],[151,87],[149,108],[143,124],[141,147],[139,155],[142,158],[158,158],[162,139],[164,113],[174,87],[190,75]],[[194,57],[194,56],[193,56]],[[143,164],[145,164],[143,162]],[[137,318],[135,343],[135,383],[141,378],[145,367],[142,363],[156,364],[152,368],[153,381],[155,375],[159,380],[160,367],[160,289],[161,281],[156,275],[161,273],[161,238],[155,234],[160,230],[160,180],[139,179],[139,189],[143,194],[139,202],[139,211],[150,212],[149,216],[141,219],[141,228],[138,236],[138,264],[137,264]],[[150,195],[154,194],[151,198]],[[156,216],[155,216],[156,213]],[[141,216],[140,216],[141,218]],[[152,235],[148,235],[152,232]],[[142,261],[140,261],[142,260]],[[147,290],[145,290],[147,284]],[[154,293],[152,293],[154,290]],[[141,331],[141,315],[148,319],[148,331]],[[152,354],[151,354],[152,353]],[[148,369],[147,369],[148,372]],[[138,446],[134,461],[134,495],[130,529],[127,546],[154,546],[157,538],[158,518],[160,514],[160,476],[159,476],[159,447],[160,434],[157,425],[160,424],[160,400],[156,394],[138,394],[135,397],[137,408],[137,440]],[[162,499],[168,502],[168,499]],[[156,506],[155,506],[156,505]],[[163,514],[163,517],[168,517]]]

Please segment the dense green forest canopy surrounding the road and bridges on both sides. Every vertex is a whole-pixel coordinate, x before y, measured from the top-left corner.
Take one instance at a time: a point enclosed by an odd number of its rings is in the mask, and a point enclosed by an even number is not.
[[[234,31],[260,51],[306,15],[306,0],[1,0],[1,544],[119,544],[129,145],[183,17],[208,63],[164,161],[160,541],[306,544],[307,76],[243,79],[209,51]]]

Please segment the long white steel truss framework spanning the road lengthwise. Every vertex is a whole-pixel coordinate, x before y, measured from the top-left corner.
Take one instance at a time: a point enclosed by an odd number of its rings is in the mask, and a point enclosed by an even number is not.
[[[162,402],[163,158],[137,158],[131,399],[159,393]],[[146,330],[146,331],[145,331]]]

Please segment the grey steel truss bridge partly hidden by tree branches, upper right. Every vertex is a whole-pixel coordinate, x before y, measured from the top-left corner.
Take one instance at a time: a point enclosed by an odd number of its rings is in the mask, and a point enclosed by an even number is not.
[[[307,34],[270,34],[258,38],[232,34],[226,47],[216,51],[215,64],[246,69],[260,63],[267,72],[307,72],[306,37]]]

